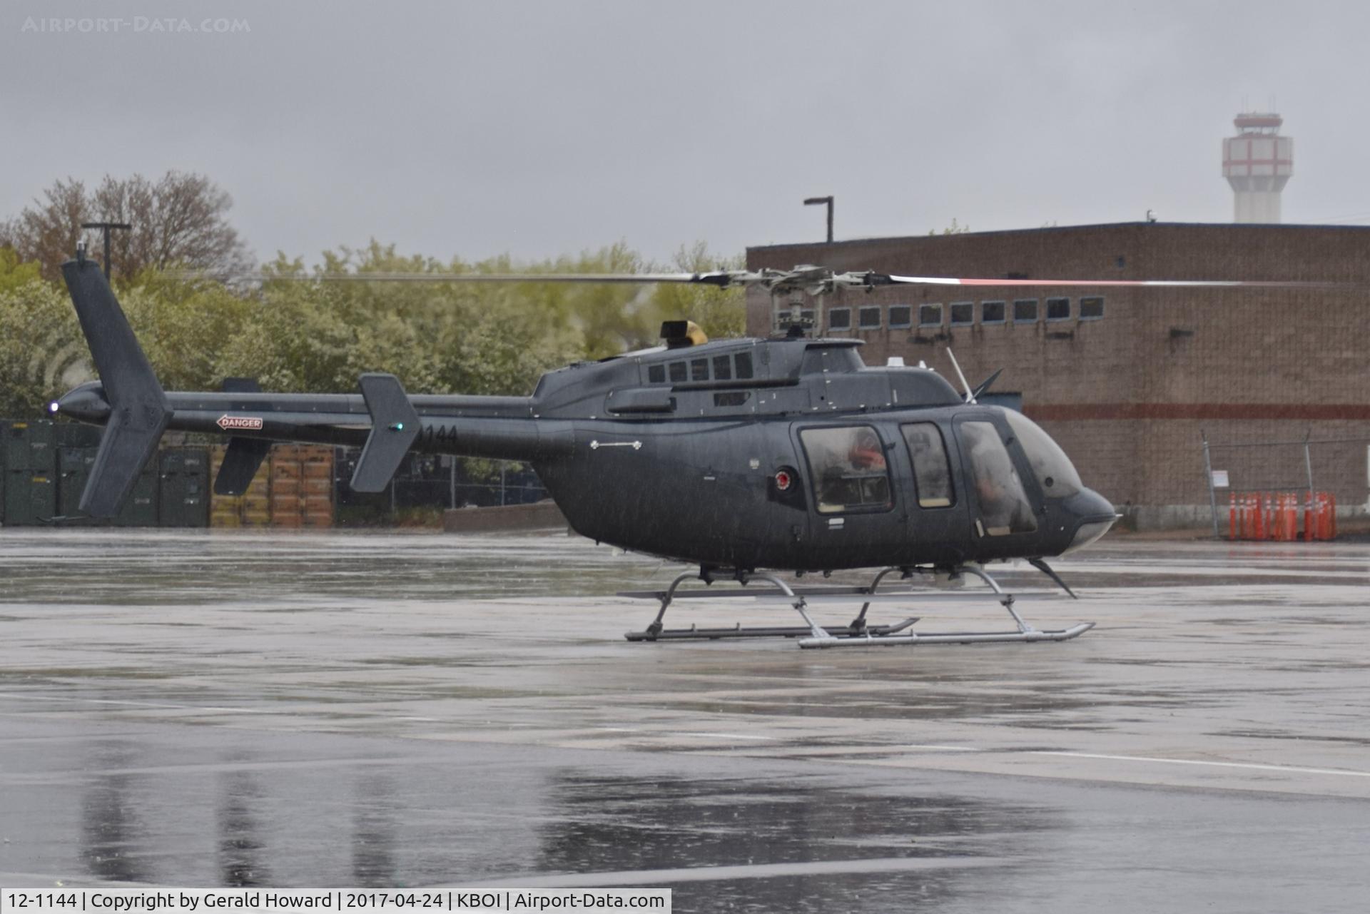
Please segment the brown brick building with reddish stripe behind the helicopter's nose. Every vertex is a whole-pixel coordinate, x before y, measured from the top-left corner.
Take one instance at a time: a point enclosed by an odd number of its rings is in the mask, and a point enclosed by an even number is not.
[[[867,365],[903,356],[955,384],[1022,397],[1088,485],[1138,526],[1207,522],[1203,437],[1233,489],[1304,488],[1367,503],[1370,227],[1117,223],[748,248],[749,269],[945,277],[1307,280],[1355,289],[896,286],[837,292],[825,336],[855,336]],[[754,336],[775,310],[748,296]],[[1260,443],[1296,443],[1267,444]],[[1232,447],[1255,445],[1255,447]],[[1218,492],[1226,518],[1228,495]]]

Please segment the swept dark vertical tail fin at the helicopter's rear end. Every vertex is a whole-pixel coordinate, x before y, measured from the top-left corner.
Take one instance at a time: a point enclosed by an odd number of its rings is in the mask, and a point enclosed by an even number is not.
[[[100,266],[85,258],[67,260],[62,278],[110,402],[110,419],[81,493],[81,511],[114,517],[156,452],[171,421],[171,404]]]

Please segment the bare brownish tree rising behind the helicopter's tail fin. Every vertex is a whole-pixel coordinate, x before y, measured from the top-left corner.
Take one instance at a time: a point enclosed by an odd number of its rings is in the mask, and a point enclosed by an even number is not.
[[[222,275],[251,267],[247,247],[229,225],[233,199],[203,174],[167,171],[153,182],[136,174],[105,175],[95,192],[74,178],[59,180],[8,223],[10,244],[55,280],[71,258],[84,222],[127,222],[111,236],[112,274],[185,266]],[[103,241],[86,236],[90,256],[104,256]]]

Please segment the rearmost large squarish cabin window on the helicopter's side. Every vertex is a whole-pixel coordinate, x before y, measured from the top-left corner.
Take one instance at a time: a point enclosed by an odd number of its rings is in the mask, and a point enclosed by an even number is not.
[[[869,425],[799,433],[821,514],[889,508],[889,467],[880,434]]]

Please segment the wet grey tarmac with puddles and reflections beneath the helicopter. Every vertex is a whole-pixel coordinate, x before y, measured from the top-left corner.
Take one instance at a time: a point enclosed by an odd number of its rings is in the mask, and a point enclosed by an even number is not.
[[[1111,539],[1058,563],[1081,600],[1019,607],[1099,623],[1064,644],[623,641],[655,607],[611,595],[678,570],[566,536],[3,530],[0,882],[1365,910],[1370,545]]]

